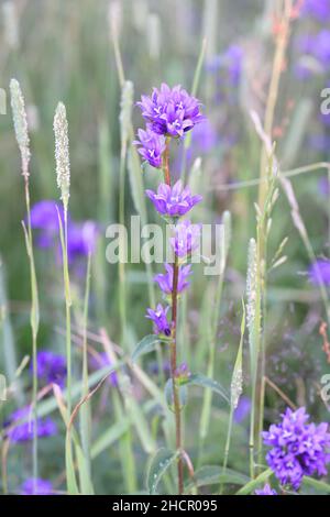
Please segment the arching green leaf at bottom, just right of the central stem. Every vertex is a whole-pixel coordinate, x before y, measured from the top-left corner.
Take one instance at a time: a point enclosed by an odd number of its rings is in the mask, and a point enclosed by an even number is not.
[[[226,469],[223,472],[222,466],[205,465],[195,473],[194,481],[190,481],[186,488],[189,491],[196,486],[216,485],[219,483],[244,485],[248,482],[249,477],[240,472],[235,472],[231,469]]]

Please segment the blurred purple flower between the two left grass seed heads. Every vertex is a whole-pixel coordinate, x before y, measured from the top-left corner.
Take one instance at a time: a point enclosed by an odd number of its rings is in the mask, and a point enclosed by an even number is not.
[[[40,248],[51,248],[54,244],[54,238],[58,234],[59,228],[58,213],[64,223],[62,205],[57,206],[51,199],[38,201],[31,208],[31,227],[38,230],[36,244]]]

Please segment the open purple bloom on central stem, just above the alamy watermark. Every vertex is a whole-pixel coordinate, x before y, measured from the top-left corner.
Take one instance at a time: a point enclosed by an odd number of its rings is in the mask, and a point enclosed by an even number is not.
[[[193,196],[189,186],[184,188],[180,179],[173,187],[162,183],[157,194],[153,190],[145,190],[145,194],[160,213],[169,217],[184,216],[202,199],[199,195]]]

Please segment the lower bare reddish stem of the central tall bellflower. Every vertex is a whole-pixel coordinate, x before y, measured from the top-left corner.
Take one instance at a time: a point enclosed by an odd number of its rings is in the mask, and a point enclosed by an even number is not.
[[[173,383],[174,413],[175,413],[175,433],[176,449],[182,450],[182,416],[179,404],[179,387],[176,378],[177,353],[176,353],[176,327],[177,327],[177,284],[178,284],[178,258],[175,257],[173,266],[173,292],[172,292],[172,323],[173,323],[173,341],[170,346],[170,376]],[[184,465],[179,454],[177,464],[178,474],[178,493],[184,492]]]

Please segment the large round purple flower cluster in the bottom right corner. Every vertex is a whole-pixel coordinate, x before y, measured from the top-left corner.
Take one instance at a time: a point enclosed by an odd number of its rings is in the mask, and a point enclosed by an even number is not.
[[[282,485],[300,487],[304,475],[327,474],[330,462],[330,433],[328,424],[308,424],[304,407],[287,408],[282,422],[263,432],[264,443],[272,449],[266,455],[271,469]]]

